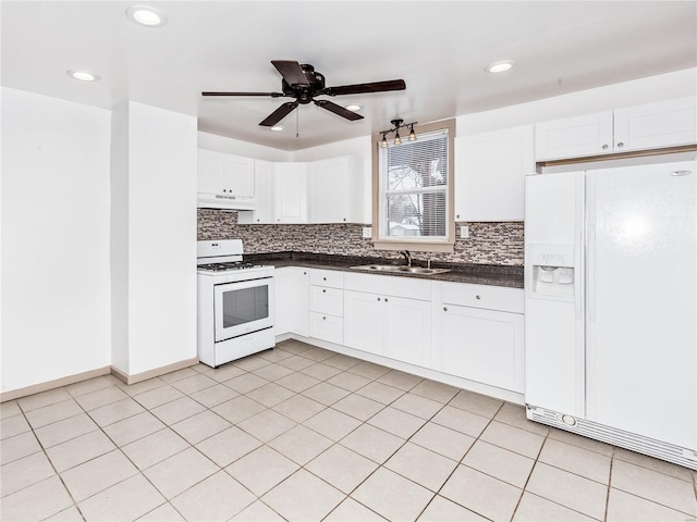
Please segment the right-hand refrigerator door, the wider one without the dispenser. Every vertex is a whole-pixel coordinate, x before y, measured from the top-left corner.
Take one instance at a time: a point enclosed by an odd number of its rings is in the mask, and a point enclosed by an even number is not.
[[[589,171],[587,198],[589,419],[695,448],[697,162]]]

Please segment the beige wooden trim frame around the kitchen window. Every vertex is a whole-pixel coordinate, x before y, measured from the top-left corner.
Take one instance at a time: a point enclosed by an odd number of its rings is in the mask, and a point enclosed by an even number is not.
[[[405,127],[406,128],[406,127]],[[377,250],[414,250],[420,252],[453,252],[455,244],[455,120],[443,120],[425,125],[415,125],[417,136],[448,130],[448,184],[445,195],[445,237],[433,239],[432,236],[381,236],[382,206],[384,192],[380,185],[380,141],[382,133],[378,133],[372,140],[372,246]],[[406,138],[404,138],[406,139]],[[418,137],[417,137],[418,139]]]

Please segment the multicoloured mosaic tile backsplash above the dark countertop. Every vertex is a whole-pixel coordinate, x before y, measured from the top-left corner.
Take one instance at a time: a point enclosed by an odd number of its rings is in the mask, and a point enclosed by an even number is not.
[[[523,265],[523,223],[456,223],[469,226],[469,237],[455,241],[453,253],[433,253],[433,261],[451,263]],[[311,252],[341,256],[399,258],[396,252],[375,250],[362,237],[366,225],[240,225],[237,213],[198,209],[198,240],[242,239],[246,253]],[[458,229],[458,228],[457,228]],[[414,259],[425,254],[414,253]]]

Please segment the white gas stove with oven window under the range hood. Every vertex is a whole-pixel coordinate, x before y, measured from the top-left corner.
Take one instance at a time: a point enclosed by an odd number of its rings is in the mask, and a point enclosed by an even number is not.
[[[197,243],[198,359],[217,368],[273,348],[273,266],[243,262],[241,239]]]

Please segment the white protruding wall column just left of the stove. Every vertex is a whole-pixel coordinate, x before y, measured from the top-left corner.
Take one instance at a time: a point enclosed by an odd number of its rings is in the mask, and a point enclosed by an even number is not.
[[[127,159],[112,159],[112,167],[123,161],[127,169],[112,170],[121,221],[112,281],[123,285],[114,309],[127,320],[114,314],[112,327],[114,344],[127,345],[114,346],[113,361],[135,375],[196,357],[196,119],[135,102],[115,113],[125,124],[114,126],[113,140],[127,140]]]

